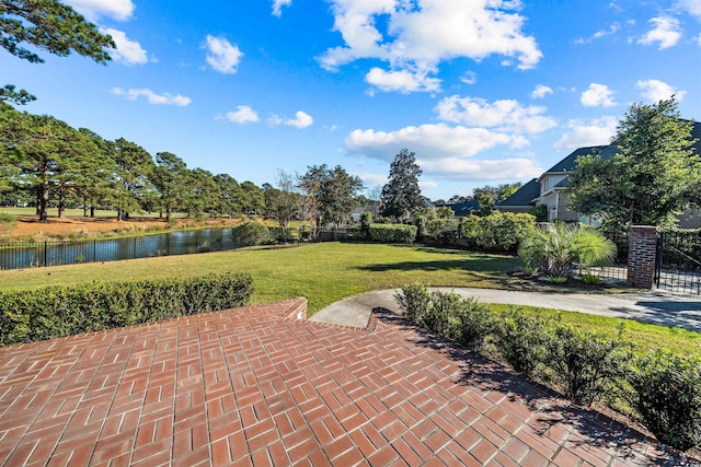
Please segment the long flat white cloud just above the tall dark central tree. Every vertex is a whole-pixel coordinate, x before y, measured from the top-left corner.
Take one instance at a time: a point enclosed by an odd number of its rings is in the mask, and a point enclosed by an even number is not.
[[[446,159],[472,156],[496,145],[520,148],[525,144],[528,142],[518,136],[447,124],[405,127],[390,132],[358,129],[345,140],[349,152],[382,161],[391,161],[404,148],[412,148],[424,159]]]

